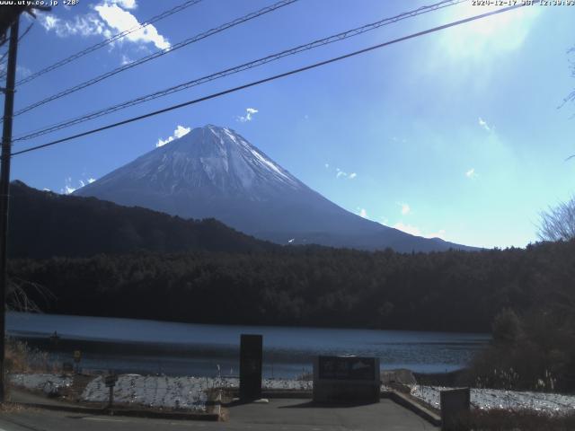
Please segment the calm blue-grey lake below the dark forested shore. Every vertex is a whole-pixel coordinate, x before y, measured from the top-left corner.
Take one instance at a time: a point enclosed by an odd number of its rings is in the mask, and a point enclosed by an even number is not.
[[[8,312],[9,335],[49,349],[52,360],[119,373],[237,375],[240,334],[263,335],[264,377],[311,372],[316,355],[377,356],[382,369],[444,373],[464,367],[488,334],[204,325],[57,314]],[[49,336],[60,339],[50,346]],[[219,372],[218,372],[219,369]]]

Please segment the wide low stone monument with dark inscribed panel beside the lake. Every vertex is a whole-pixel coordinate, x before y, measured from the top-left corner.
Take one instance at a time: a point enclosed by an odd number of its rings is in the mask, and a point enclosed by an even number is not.
[[[314,360],[314,401],[379,402],[378,357],[317,356]]]

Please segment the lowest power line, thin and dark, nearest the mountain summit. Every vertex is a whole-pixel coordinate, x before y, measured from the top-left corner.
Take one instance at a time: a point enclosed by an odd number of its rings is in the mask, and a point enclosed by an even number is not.
[[[536,4],[536,3],[538,3],[537,0],[535,0],[534,4]],[[199,103],[199,102],[201,102],[201,101],[208,101],[208,100],[211,100],[211,99],[216,99],[217,97],[221,97],[221,96],[224,96],[224,95],[229,94],[229,93],[232,93],[232,92],[239,92],[239,91],[241,91],[241,90],[244,90],[244,89],[246,89],[246,88],[253,87],[253,86],[255,86],[255,85],[260,85],[260,84],[269,83],[269,82],[271,82],[271,81],[275,81],[275,80],[277,80],[277,79],[284,78],[284,77],[289,76],[289,75],[296,75],[296,74],[299,74],[299,73],[301,73],[301,72],[305,72],[306,70],[311,70],[311,69],[314,69],[314,68],[317,68],[317,67],[320,67],[320,66],[329,65],[329,64],[331,64],[331,63],[335,63],[335,62],[337,62],[337,61],[341,61],[341,60],[343,60],[343,59],[345,59],[345,58],[355,57],[355,56],[358,56],[358,55],[360,55],[360,54],[365,54],[365,53],[367,53],[367,52],[369,52],[369,51],[373,51],[373,50],[378,49],[378,48],[384,48],[384,47],[387,47],[387,46],[389,46],[389,45],[393,45],[393,44],[398,43],[398,42],[403,42],[404,40],[411,40],[411,39],[419,38],[420,36],[424,36],[424,35],[426,35],[426,34],[430,34],[430,33],[434,33],[434,32],[437,32],[437,31],[445,30],[445,29],[448,29],[448,28],[450,28],[450,27],[455,27],[456,25],[461,25],[461,24],[464,24],[465,22],[473,22],[473,21],[476,21],[476,20],[480,20],[480,19],[482,19],[482,18],[486,18],[486,17],[491,16],[491,15],[509,12],[510,10],[518,9],[518,8],[523,7],[523,6],[525,6],[525,5],[526,5],[526,4],[516,4],[516,5],[504,7],[504,8],[499,9],[499,10],[495,10],[495,11],[491,11],[491,12],[487,12],[487,13],[481,13],[481,14],[479,14],[479,15],[474,15],[474,16],[472,16],[472,17],[465,18],[465,19],[463,19],[463,20],[458,20],[458,21],[455,21],[455,22],[449,22],[449,23],[447,23],[447,24],[439,25],[439,26],[437,26],[437,27],[433,27],[433,28],[428,29],[428,30],[418,31],[417,33],[411,33],[410,35],[408,35],[408,36],[403,36],[402,38],[398,38],[398,39],[394,39],[394,40],[389,40],[389,41],[387,41],[387,42],[383,42],[383,43],[380,43],[380,44],[378,44],[378,45],[374,45],[374,46],[371,46],[371,47],[368,47],[368,48],[359,49],[359,50],[357,50],[357,51],[350,52],[350,53],[345,54],[345,55],[343,55],[343,56],[332,57],[332,58],[330,58],[330,59],[328,59],[328,60],[323,60],[323,61],[320,61],[320,62],[318,62],[318,63],[314,63],[314,64],[309,65],[309,66],[304,66],[304,67],[299,67],[299,68],[296,68],[296,69],[292,69],[292,70],[290,70],[290,71],[288,71],[288,72],[284,72],[284,73],[279,74],[279,75],[269,76],[269,77],[267,77],[267,78],[264,78],[264,79],[261,79],[261,80],[258,80],[258,81],[253,81],[252,83],[249,83],[249,84],[243,84],[243,85],[240,85],[240,86],[237,86],[237,87],[234,87],[234,88],[230,88],[230,89],[224,90],[224,91],[222,91],[222,92],[215,92],[215,93],[209,94],[208,96],[200,97],[199,99],[194,99],[194,100],[192,100],[192,101],[185,101],[185,102],[179,103],[179,104],[177,104],[177,105],[169,106],[169,107],[164,108],[164,109],[162,109],[162,110],[155,110],[155,111],[152,111],[152,112],[148,112],[148,113],[146,113],[146,114],[144,114],[144,115],[139,115],[139,116],[137,116],[137,117],[132,117],[132,118],[130,118],[130,119],[124,119],[124,120],[122,120],[122,121],[118,121],[118,122],[116,122],[116,123],[112,123],[112,124],[109,124],[109,125],[107,125],[107,126],[102,126],[101,128],[93,128],[92,130],[88,130],[88,131],[86,131],[86,132],[78,133],[78,134],[73,135],[73,136],[66,136],[66,137],[63,137],[63,138],[61,138],[61,139],[57,139],[57,140],[55,140],[55,141],[51,141],[51,142],[46,143],[46,144],[35,145],[35,146],[30,147],[30,148],[26,148],[25,150],[17,151],[17,152],[15,152],[15,153],[13,153],[12,155],[30,153],[31,151],[36,151],[36,150],[40,150],[41,148],[46,148],[46,147],[48,147],[48,146],[61,144],[61,143],[66,142],[66,141],[70,141],[70,140],[72,140],[72,139],[76,139],[76,138],[78,138],[78,137],[93,135],[94,133],[102,132],[103,130],[108,130],[108,129],[110,129],[110,128],[117,128],[117,127],[119,127],[119,126],[123,126],[123,125],[126,125],[126,124],[128,124],[128,123],[133,123],[133,122],[138,121],[138,120],[140,120],[140,119],[148,119],[148,118],[150,118],[150,117],[154,117],[154,116],[156,116],[156,115],[163,114],[164,112],[169,112],[169,111],[171,111],[171,110],[178,110],[178,109],[180,109],[180,108],[183,108],[183,107],[186,107],[186,106],[190,106],[190,105]]]

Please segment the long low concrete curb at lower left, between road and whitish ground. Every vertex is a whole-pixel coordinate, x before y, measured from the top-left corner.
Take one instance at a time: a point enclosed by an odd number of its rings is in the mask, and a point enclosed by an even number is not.
[[[68,411],[71,413],[82,413],[87,415],[108,415],[126,416],[131,418],[156,418],[156,419],[177,419],[177,420],[207,420],[218,421],[221,410],[220,402],[214,402],[217,406],[217,413],[178,413],[169,411],[137,410],[137,409],[95,409],[93,407],[82,406],[58,406],[57,404],[38,404],[31,402],[12,402],[14,406],[23,406],[32,409],[47,409],[57,411]]]

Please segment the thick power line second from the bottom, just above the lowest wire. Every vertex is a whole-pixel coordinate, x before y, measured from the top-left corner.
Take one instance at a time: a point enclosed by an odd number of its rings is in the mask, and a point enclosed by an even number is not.
[[[468,0],[443,0],[437,4],[431,4],[429,6],[422,6],[418,9],[415,9],[415,10],[412,10],[409,12],[400,13],[400,14],[395,15],[393,17],[385,18],[385,19],[380,20],[378,22],[372,22],[372,23],[369,23],[369,24],[366,24],[366,25],[363,25],[361,27],[357,27],[355,29],[351,29],[348,31],[342,31],[340,33],[334,34],[334,35],[329,36],[327,38],[323,38],[320,40],[314,40],[313,42],[309,42],[309,43],[306,43],[304,45],[300,45],[296,48],[289,48],[289,49],[283,50],[279,53],[272,54],[272,55],[267,56],[267,57],[261,57],[261,58],[258,58],[257,60],[253,60],[251,62],[244,63],[243,65],[240,65],[240,66],[234,66],[234,67],[219,71],[219,72],[211,74],[211,75],[205,75],[205,76],[202,76],[200,78],[194,79],[192,81],[188,81],[186,83],[174,85],[172,87],[166,88],[166,89],[158,91],[158,92],[152,92],[152,93],[146,94],[144,96],[140,96],[136,99],[132,99],[130,101],[124,101],[124,102],[118,103],[116,105],[113,105],[111,107],[104,108],[102,110],[97,110],[97,111],[94,111],[94,112],[91,112],[88,114],[84,114],[83,116],[75,117],[74,119],[68,119],[65,121],[60,121],[59,123],[51,125],[47,128],[37,129],[37,130],[32,131],[32,132],[27,132],[26,135],[21,135],[19,137],[16,137],[14,139],[14,142],[15,141],[28,140],[28,139],[42,136],[42,135],[47,135],[49,133],[55,132],[57,130],[61,130],[63,128],[69,128],[69,127],[75,126],[77,124],[84,123],[85,121],[88,121],[91,119],[97,119],[99,117],[111,114],[112,112],[116,112],[118,110],[124,110],[124,109],[127,109],[129,107],[135,106],[137,104],[140,104],[140,103],[143,103],[146,101],[152,101],[152,100],[158,99],[160,97],[164,97],[166,95],[173,94],[174,92],[181,92],[183,90],[189,89],[190,87],[194,87],[194,86],[197,86],[200,84],[206,84],[208,82],[215,81],[219,78],[223,78],[223,77],[226,77],[229,75],[234,75],[234,74],[237,74],[239,72],[243,72],[243,71],[248,70],[248,69],[252,69],[253,67],[262,66],[262,65],[265,65],[265,64],[270,63],[272,61],[279,60],[280,58],[283,58],[283,57],[293,56],[293,55],[296,55],[296,54],[303,52],[305,50],[318,48],[318,47],[328,45],[328,44],[333,43],[333,42],[338,42],[341,40],[346,40],[346,39],[349,39],[353,36],[358,36],[359,34],[363,34],[367,31],[376,30],[382,26],[385,26],[385,25],[388,25],[388,24],[391,24],[394,22],[399,22],[399,21],[402,21],[404,19],[420,15],[422,13],[429,13],[429,12],[437,11],[437,10],[445,8],[447,6],[452,6],[452,5],[464,3],[467,1]]]

